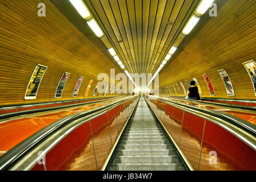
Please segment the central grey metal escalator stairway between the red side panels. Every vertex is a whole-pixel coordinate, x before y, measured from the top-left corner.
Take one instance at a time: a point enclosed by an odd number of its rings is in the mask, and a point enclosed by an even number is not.
[[[143,97],[123,131],[107,171],[187,170],[174,144]]]

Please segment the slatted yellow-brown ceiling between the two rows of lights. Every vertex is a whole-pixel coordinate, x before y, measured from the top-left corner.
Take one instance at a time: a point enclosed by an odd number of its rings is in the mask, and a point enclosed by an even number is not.
[[[83,1],[130,73],[156,71],[199,3],[199,0]],[[73,11],[67,7],[70,3],[51,2],[62,10]],[[69,12],[71,23],[77,25],[81,19],[75,11]]]

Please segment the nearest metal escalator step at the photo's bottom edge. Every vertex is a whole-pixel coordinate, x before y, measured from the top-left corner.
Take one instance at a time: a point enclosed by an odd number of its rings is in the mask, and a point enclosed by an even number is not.
[[[109,171],[185,171],[181,164],[110,164]]]

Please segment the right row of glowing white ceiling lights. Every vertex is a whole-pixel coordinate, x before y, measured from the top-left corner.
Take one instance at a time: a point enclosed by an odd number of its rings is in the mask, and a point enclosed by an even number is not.
[[[154,80],[154,78],[157,76],[157,74],[161,71],[163,66],[167,63],[167,61],[171,58],[173,53],[176,51],[179,43],[181,43],[181,40],[183,38],[185,38],[185,36],[190,33],[190,31],[194,28],[194,26],[199,21],[200,17],[207,11],[207,9],[211,6],[211,4],[213,2],[214,2],[214,0],[202,0],[200,2],[197,10],[193,14],[193,16],[191,16],[190,20],[186,23],[185,28],[183,28],[181,34],[178,36],[177,40],[174,42],[174,44],[175,43],[176,44],[170,48],[169,52],[165,56],[165,59],[163,59],[162,64],[159,66],[159,68],[157,69],[154,76],[151,78],[151,80],[147,84],[147,86],[149,86],[151,84],[151,82]]]

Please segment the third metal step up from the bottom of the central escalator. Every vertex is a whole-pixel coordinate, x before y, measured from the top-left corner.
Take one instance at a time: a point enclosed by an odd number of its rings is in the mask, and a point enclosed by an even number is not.
[[[162,155],[176,155],[175,150],[170,149],[161,149],[161,150],[117,150],[117,156],[123,155],[155,155],[155,156],[162,156]]]

